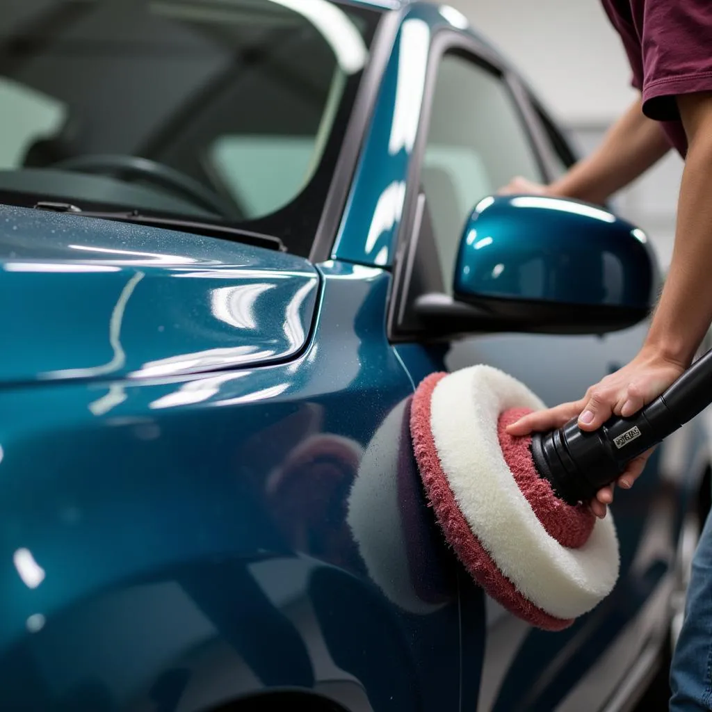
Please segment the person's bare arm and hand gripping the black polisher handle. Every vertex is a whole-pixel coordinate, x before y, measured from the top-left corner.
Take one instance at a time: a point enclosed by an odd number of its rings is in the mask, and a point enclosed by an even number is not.
[[[612,413],[632,415],[659,396],[689,366],[712,321],[712,93],[677,100],[688,139],[668,277],[639,354],[587,390],[577,402],[530,414],[510,427],[515,435],[556,428],[578,417],[582,430],[599,428]],[[619,479],[632,486],[646,457]],[[592,503],[597,515],[612,501],[612,488]]]

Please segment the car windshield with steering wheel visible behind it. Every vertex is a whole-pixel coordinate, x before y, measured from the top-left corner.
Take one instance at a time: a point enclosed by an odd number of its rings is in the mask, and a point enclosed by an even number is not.
[[[0,0],[0,202],[136,209],[308,255],[377,11]]]

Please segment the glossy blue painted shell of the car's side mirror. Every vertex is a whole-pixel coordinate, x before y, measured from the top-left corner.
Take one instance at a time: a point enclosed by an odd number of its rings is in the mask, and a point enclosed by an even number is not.
[[[453,290],[465,299],[647,309],[655,286],[654,256],[639,228],[589,204],[512,196],[474,209]]]

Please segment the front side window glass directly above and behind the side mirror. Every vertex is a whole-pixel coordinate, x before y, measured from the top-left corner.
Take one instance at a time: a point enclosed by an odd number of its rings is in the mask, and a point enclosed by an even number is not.
[[[493,70],[446,54],[436,78],[421,172],[446,290],[452,288],[468,214],[517,175],[544,179],[506,83]]]

